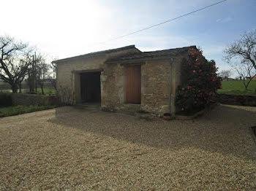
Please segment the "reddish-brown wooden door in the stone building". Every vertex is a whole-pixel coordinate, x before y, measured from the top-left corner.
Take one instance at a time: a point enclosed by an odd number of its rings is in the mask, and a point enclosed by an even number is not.
[[[129,104],[140,104],[140,66],[127,66],[126,98]]]

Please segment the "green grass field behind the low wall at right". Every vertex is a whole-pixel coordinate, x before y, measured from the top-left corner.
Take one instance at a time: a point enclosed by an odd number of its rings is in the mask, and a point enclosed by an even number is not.
[[[256,95],[256,80],[249,83],[248,90],[245,90],[243,80],[232,80],[222,82],[222,89],[218,90],[221,94],[231,95]]]

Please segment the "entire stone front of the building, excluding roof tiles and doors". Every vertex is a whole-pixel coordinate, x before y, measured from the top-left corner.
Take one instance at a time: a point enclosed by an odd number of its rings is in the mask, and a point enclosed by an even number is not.
[[[172,55],[171,58],[143,58],[141,61],[129,61],[129,63],[122,63],[122,61],[106,63],[110,58],[134,54],[140,54],[140,50],[131,47],[125,50],[56,61],[57,90],[62,101],[78,104],[80,102],[80,74],[100,71],[102,109],[132,112],[143,110],[154,114],[164,114],[170,111],[175,114],[176,87],[181,81],[181,60],[187,55],[182,53]],[[141,104],[126,104],[127,65],[141,66]]]

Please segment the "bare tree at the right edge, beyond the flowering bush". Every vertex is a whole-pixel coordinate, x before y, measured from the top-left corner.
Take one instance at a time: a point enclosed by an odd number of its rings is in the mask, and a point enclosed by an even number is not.
[[[238,72],[244,82],[245,79],[248,79],[245,85],[247,90],[256,70],[256,29],[251,32],[245,32],[241,35],[241,39],[230,44],[224,52],[225,61],[230,63],[230,66]],[[234,62],[237,63],[237,61],[240,64],[233,64]]]

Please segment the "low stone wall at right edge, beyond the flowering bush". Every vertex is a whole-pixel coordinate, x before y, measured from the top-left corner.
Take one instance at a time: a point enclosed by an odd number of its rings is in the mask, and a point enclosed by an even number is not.
[[[238,106],[256,106],[256,95],[219,94],[219,103]]]

